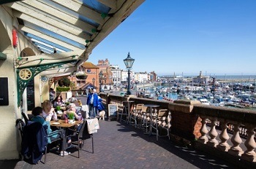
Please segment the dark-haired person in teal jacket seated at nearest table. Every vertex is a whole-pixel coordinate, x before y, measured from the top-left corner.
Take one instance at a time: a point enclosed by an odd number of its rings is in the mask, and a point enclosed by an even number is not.
[[[59,129],[55,131],[51,130],[50,122],[46,121],[45,118],[42,116],[43,115],[42,107],[37,106],[34,109],[32,109],[32,114],[34,115],[34,117],[31,118],[32,122],[40,122],[42,125],[47,125],[47,134],[50,135],[48,137],[48,144],[50,144],[52,141],[55,141],[58,138],[64,138],[65,132],[63,129]]]

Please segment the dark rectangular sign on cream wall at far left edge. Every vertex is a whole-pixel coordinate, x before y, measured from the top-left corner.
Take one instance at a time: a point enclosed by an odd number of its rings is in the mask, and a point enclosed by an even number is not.
[[[8,78],[0,77],[0,106],[9,105],[9,95],[8,95]]]

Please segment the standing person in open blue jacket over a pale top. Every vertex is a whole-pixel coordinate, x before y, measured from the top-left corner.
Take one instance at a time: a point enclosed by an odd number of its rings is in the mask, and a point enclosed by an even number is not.
[[[89,105],[89,116],[94,117],[96,116],[97,106],[99,105],[99,98],[96,93],[96,89],[91,90],[88,95],[86,104]]]

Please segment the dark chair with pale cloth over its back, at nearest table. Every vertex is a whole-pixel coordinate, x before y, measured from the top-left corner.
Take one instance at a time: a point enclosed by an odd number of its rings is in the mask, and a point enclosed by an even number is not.
[[[71,138],[71,144],[73,147],[78,149],[78,158],[80,158],[80,149],[82,149],[84,140],[91,138],[92,153],[94,153],[94,138],[92,134],[88,133],[87,121],[84,120],[81,127],[76,130],[68,128],[69,132],[73,132],[71,135],[67,135],[66,138]],[[81,143],[83,141],[83,143]]]

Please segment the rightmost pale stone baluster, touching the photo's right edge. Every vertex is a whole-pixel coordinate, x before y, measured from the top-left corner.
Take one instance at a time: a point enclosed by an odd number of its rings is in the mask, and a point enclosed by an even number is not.
[[[256,143],[255,143],[255,125],[246,125],[247,127],[247,139],[244,142],[244,146],[246,146],[246,151],[241,155],[241,158],[244,160],[248,160],[250,162],[256,162]]]

